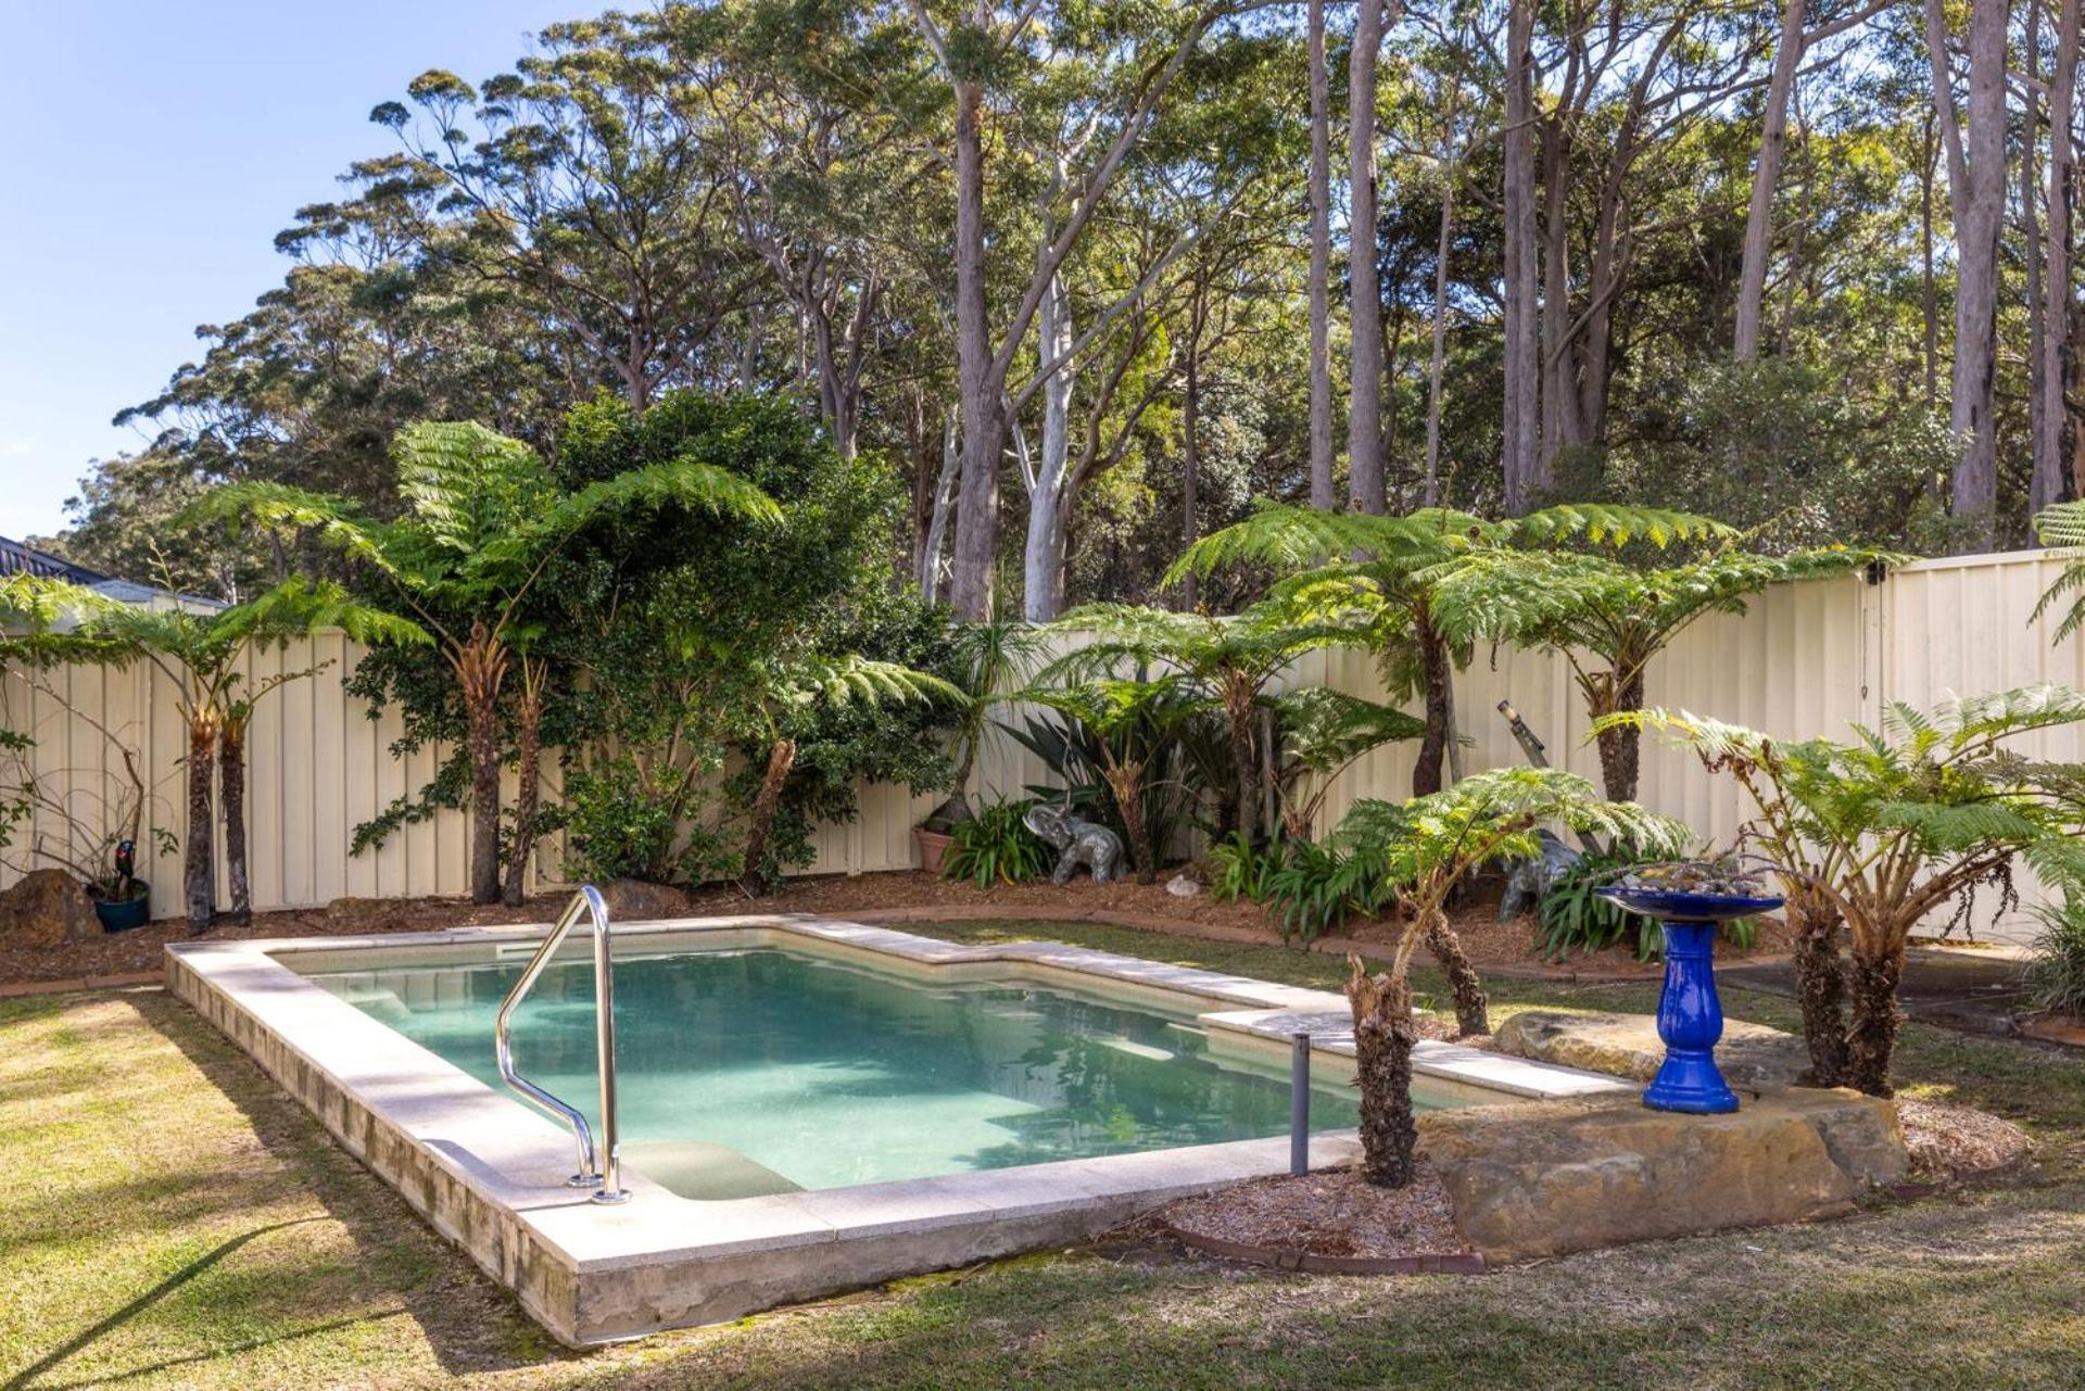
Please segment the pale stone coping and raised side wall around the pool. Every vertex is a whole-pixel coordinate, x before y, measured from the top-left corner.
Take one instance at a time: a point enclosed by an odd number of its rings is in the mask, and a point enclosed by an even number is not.
[[[173,995],[244,1047],[348,1153],[573,1347],[1063,1245],[1176,1197],[1289,1170],[1289,1139],[1276,1137],[694,1201],[626,1166],[634,1201],[603,1207],[565,1187],[573,1143],[561,1126],[277,959],[528,943],[546,926],[169,943],[165,963]],[[615,924],[617,943],[640,945],[709,932],[771,932],[913,968],[1011,963],[1207,1003],[1197,1020],[1211,1041],[1222,1034],[1232,1047],[1286,1047],[1307,1028],[1320,1066],[1353,1053],[1347,1003],[1330,991],[1063,943],[959,945],[811,913]],[[1432,1041],[1414,1051],[1414,1072],[1499,1101],[1626,1091],[1616,1078]],[[1314,1166],[1355,1153],[1351,1130],[1311,1137]]]

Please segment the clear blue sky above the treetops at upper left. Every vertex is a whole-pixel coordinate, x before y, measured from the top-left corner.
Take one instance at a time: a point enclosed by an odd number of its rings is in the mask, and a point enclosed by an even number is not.
[[[480,81],[607,0],[0,0],[0,536],[50,534],[108,423],[288,263],[271,238],[390,148],[369,108]]]

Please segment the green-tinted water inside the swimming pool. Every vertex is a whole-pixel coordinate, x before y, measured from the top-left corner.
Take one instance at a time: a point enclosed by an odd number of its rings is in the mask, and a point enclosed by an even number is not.
[[[521,972],[413,966],[313,982],[502,1089],[492,1018]],[[1289,1080],[1218,1064],[1191,1014],[1020,982],[936,984],[746,949],[617,959],[628,1164],[686,1197],[832,1189],[1286,1134]],[[521,1005],[515,1066],[594,1109],[592,966]],[[1311,1128],[1355,1124],[1316,1089]]]

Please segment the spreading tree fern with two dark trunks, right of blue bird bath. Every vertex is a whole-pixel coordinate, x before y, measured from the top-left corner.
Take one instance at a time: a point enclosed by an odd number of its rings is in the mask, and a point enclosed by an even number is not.
[[[2010,901],[2010,865],[2085,882],[2085,765],[2008,749],[2033,730],[2085,724],[2085,692],[2022,686],[1952,699],[1933,713],[1891,705],[1849,742],[1781,742],[1687,711],[1622,711],[1603,726],[1655,730],[1745,788],[1747,838],[1774,861],[1797,928],[1812,1080],[1889,1095],[1897,978],[1912,930],[1964,920],[1979,884]],[[1851,980],[1839,974],[1839,928]],[[1845,995],[1851,999],[1845,999]]]

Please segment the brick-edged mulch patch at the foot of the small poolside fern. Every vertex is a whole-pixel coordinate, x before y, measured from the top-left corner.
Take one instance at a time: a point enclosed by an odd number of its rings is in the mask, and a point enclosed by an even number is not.
[[[1284,1270],[1345,1274],[1478,1274],[1485,1258],[1455,1235],[1455,1210],[1432,1166],[1405,1189],[1378,1189],[1359,1170],[1255,1178],[1157,1214],[1178,1241]]]

